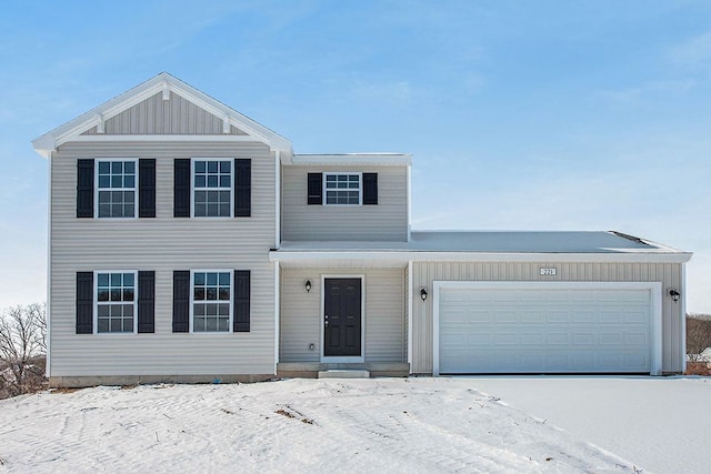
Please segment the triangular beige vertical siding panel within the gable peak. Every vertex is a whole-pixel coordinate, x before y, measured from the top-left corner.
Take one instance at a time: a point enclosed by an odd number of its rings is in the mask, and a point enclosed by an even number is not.
[[[103,134],[222,135],[222,118],[211,114],[174,92],[170,93],[169,100],[163,100],[162,92],[159,92],[107,119],[103,123]],[[98,128],[93,127],[82,134],[99,134]],[[247,133],[230,125],[229,134]]]

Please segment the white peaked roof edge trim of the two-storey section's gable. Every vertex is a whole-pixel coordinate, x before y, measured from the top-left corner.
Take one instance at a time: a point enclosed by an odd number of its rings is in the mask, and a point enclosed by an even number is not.
[[[77,140],[91,129],[103,127],[103,123],[109,119],[161,92],[163,99],[169,98],[170,93],[173,93],[221,119],[223,123],[222,132],[224,134],[229,134],[231,128],[234,127],[242,132],[240,135],[241,139],[259,141],[272,150],[288,152],[289,154],[292,152],[291,142],[288,139],[167,72],[161,72],[142,84],[44,133],[32,141],[32,147],[42,157],[49,158],[50,153],[57,150],[62,143]],[[86,138],[98,139],[101,137],[101,134],[91,134]],[[111,137],[117,138],[119,135]],[[150,137],[156,138],[156,135]]]

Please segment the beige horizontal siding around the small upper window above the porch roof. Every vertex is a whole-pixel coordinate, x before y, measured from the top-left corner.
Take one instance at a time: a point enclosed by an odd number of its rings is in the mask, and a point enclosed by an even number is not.
[[[308,205],[307,177],[320,172],[378,173],[377,205]],[[284,241],[405,241],[407,167],[282,167]]]

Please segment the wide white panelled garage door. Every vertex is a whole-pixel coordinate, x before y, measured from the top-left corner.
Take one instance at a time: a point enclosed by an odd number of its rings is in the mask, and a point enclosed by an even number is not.
[[[442,284],[435,373],[653,372],[651,289],[559,285]]]

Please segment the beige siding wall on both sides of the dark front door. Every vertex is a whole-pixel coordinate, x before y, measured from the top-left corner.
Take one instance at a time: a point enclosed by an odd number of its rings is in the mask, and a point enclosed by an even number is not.
[[[321,353],[321,275],[364,275],[365,362],[405,362],[401,269],[282,269],[280,362],[319,362]],[[311,292],[304,289],[311,281]],[[309,349],[313,344],[314,349]]]

